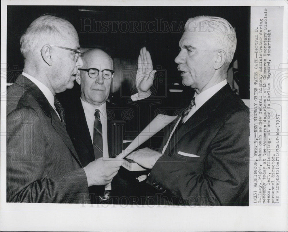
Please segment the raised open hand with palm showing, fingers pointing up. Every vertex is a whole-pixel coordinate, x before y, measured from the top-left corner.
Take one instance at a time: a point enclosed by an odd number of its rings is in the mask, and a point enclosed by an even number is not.
[[[150,87],[153,85],[155,73],[156,70],[153,70],[149,51],[146,50],[146,47],[141,48],[135,80],[139,97],[147,97],[150,95]]]

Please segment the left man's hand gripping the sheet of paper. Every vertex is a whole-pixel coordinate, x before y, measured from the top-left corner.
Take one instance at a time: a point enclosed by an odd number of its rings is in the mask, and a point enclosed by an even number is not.
[[[107,185],[115,177],[122,164],[123,160],[115,160],[114,158],[99,158],[90,162],[83,168],[88,186]]]

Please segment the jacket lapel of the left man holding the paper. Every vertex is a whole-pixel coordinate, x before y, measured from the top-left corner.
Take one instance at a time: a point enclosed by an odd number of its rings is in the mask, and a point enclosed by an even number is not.
[[[65,129],[64,124],[60,121],[59,117],[57,116],[55,110],[50,106],[50,103],[46,99],[45,95],[42,93],[42,91],[35,85],[31,80],[26,78],[23,75],[20,75],[17,80],[15,81],[18,85],[22,86],[24,89],[26,89],[39,103],[39,106],[43,110],[43,112],[51,118],[51,124],[56,130],[56,132],[59,134],[63,142],[66,144],[66,146],[71,151],[72,156],[75,158],[75,160],[78,162],[78,164],[82,167],[81,162],[79,160],[79,157],[75,151],[75,148],[71,142],[71,139]]]

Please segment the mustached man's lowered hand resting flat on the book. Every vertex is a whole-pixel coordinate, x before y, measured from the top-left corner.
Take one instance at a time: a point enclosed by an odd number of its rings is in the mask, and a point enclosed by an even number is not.
[[[139,149],[132,152],[127,158],[134,160],[137,164],[140,164],[144,168],[153,168],[156,161],[162,156],[162,153],[156,152],[148,147]]]

